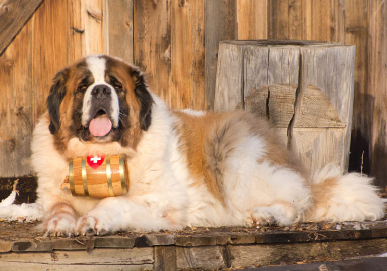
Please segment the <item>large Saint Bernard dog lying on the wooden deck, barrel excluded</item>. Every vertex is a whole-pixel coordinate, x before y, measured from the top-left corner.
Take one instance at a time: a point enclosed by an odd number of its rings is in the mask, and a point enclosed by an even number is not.
[[[124,155],[128,192],[97,199],[61,190],[69,159],[89,155]],[[268,123],[249,113],[171,110],[139,68],[106,55],[56,74],[31,163],[47,235],[384,215],[371,178],[332,166],[309,174]]]

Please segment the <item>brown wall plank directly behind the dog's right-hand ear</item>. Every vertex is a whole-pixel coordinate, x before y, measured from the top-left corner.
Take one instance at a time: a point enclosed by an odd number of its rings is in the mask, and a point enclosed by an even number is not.
[[[134,61],[144,68],[150,87],[168,104],[171,86],[170,2],[135,0]]]

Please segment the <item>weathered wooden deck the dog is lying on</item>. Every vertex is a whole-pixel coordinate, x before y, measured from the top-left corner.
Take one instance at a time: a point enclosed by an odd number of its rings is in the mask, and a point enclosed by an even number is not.
[[[342,260],[387,252],[387,221],[287,227],[193,228],[44,237],[37,223],[0,222],[5,270],[234,269]]]

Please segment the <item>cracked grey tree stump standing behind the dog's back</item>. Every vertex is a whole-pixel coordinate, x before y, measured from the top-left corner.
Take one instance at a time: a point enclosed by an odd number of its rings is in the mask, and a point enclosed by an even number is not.
[[[355,46],[309,41],[223,41],[214,109],[267,117],[311,172],[347,171]]]

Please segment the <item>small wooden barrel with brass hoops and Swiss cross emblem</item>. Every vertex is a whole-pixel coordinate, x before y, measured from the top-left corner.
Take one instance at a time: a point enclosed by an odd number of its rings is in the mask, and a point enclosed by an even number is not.
[[[123,195],[129,180],[124,156],[87,156],[69,161],[69,176],[61,185],[73,196],[106,198]]]

